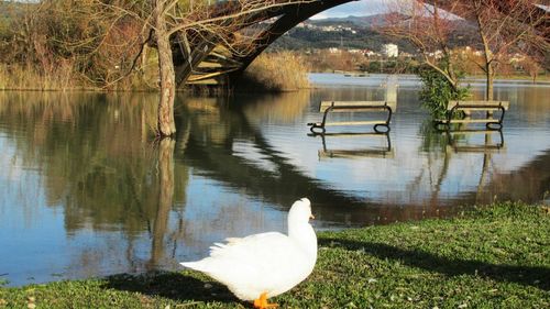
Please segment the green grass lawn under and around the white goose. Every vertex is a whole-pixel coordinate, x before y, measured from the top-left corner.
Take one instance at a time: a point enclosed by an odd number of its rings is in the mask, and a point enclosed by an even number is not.
[[[550,308],[550,214],[502,203],[452,220],[319,233],[314,274],[273,300],[282,308]],[[250,308],[187,271],[0,289],[0,308],[33,305]]]

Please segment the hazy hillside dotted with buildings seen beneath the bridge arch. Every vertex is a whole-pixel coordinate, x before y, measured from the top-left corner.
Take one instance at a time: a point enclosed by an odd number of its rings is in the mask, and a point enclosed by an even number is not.
[[[416,48],[405,40],[381,34],[377,26],[387,21],[386,14],[308,20],[277,40],[272,48],[360,48],[378,52],[382,45],[394,43],[399,49],[415,53]],[[475,27],[464,20],[454,21],[461,31],[451,38],[451,46],[475,46]]]

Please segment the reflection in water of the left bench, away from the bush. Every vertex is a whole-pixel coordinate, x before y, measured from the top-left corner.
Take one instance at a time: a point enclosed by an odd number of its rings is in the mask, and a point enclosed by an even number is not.
[[[331,134],[309,134],[310,136],[321,136],[322,150],[319,150],[319,158],[327,157],[342,157],[342,158],[358,158],[358,157],[394,157],[392,148],[392,141],[389,140],[388,132],[383,133],[331,133]],[[327,146],[327,137],[366,137],[366,139],[383,139],[383,146],[371,146],[364,148],[353,150],[331,150]]]

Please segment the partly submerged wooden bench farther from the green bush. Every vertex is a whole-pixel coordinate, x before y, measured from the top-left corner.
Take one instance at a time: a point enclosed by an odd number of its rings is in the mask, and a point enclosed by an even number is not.
[[[374,131],[381,132],[378,126],[385,126],[389,131],[389,121],[392,113],[396,109],[396,102],[386,101],[321,101],[319,112],[322,112],[321,122],[310,122],[309,130],[314,134],[323,134],[327,125],[374,125]],[[387,111],[387,117],[383,120],[363,120],[363,121],[329,121],[328,114],[331,112],[371,112],[371,111]]]

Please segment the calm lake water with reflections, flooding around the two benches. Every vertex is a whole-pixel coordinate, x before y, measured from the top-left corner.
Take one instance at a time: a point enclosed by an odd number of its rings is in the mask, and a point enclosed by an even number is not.
[[[550,190],[549,84],[497,82],[503,131],[447,135],[414,77],[311,79],[304,92],[178,97],[176,139],[160,143],[155,93],[0,92],[0,282],[179,269],[226,236],[285,231],[301,197],[323,230]],[[321,100],[386,98],[389,134],[307,135]]]

